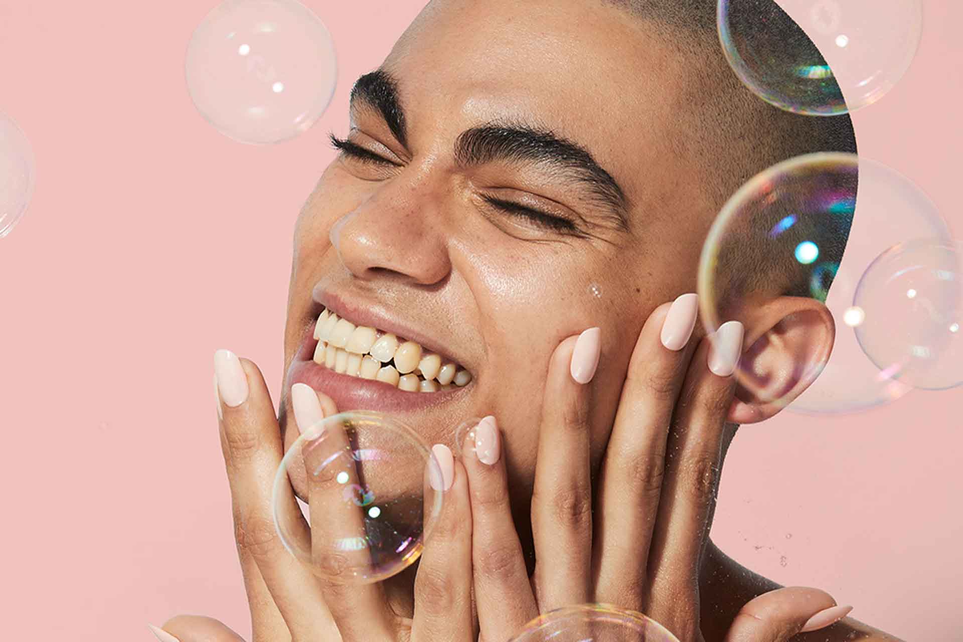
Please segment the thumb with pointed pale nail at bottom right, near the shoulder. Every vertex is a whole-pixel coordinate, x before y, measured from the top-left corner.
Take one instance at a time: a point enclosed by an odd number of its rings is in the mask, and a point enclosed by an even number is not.
[[[828,627],[851,610],[818,588],[776,589],[742,606],[725,642],[786,642],[796,633]]]

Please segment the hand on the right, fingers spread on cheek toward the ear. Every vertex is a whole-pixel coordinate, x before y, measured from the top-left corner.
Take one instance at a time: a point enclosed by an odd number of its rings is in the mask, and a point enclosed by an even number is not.
[[[720,329],[714,348],[708,339],[690,338],[696,309],[695,295],[680,297],[671,312],[670,304],[661,306],[642,328],[606,431],[594,506],[589,436],[599,433],[590,425],[593,390],[587,383],[598,362],[600,332],[586,330],[556,349],[539,427],[531,582],[511,520],[498,432],[491,419],[477,428],[481,443],[475,454],[466,449],[463,463],[482,642],[504,642],[540,613],[589,602],[643,612],[682,642],[705,639],[700,558],[723,441],[732,437],[726,418],[742,325]],[[817,589],[779,589],[746,603],[725,639],[781,642],[845,615],[845,608],[823,613],[833,606]]]

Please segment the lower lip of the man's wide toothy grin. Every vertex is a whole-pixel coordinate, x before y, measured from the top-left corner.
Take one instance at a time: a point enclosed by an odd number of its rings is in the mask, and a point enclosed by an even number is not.
[[[313,330],[313,329],[312,329]],[[408,412],[425,410],[447,403],[463,394],[471,386],[436,393],[409,393],[381,381],[340,374],[316,364],[314,348],[318,341],[309,332],[288,369],[288,385],[303,383],[325,393],[339,412],[347,410],[375,410],[378,412]]]

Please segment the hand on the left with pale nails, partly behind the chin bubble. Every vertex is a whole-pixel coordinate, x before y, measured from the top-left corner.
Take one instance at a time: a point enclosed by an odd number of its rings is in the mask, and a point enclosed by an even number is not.
[[[444,446],[434,450],[451,483],[420,559],[414,619],[409,620],[391,610],[383,584],[330,583],[284,548],[271,507],[283,444],[270,394],[261,372],[247,359],[219,350],[215,362],[221,449],[254,642],[474,642],[467,477],[451,451]],[[292,397],[301,428],[337,413],[330,398],[307,386]],[[306,529],[290,484],[287,490],[279,519]],[[314,501],[312,493],[312,512]],[[171,618],[155,634],[173,635],[179,642],[243,642],[221,622],[189,615]]]

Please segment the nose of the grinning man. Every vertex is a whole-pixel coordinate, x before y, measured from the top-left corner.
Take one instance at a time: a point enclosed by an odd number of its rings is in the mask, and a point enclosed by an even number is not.
[[[433,285],[452,270],[444,204],[422,175],[385,182],[331,226],[341,263],[365,280],[394,278]]]

